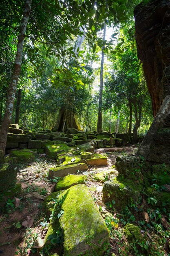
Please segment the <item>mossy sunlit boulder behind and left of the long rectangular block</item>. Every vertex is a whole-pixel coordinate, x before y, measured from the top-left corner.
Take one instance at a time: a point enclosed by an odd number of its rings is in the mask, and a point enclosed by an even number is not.
[[[57,154],[69,150],[69,147],[66,144],[56,144],[46,146],[46,156],[55,160]]]

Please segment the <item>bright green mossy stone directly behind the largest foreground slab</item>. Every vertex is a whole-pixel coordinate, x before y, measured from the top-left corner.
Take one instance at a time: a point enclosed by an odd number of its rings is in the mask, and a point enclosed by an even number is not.
[[[87,180],[86,175],[67,175],[65,177],[60,178],[55,186],[55,191],[60,191],[64,189],[69,189],[71,186],[77,184],[84,184]]]

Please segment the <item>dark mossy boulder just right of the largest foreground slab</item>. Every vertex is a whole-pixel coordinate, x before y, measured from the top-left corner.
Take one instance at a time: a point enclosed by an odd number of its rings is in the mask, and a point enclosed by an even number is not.
[[[138,202],[140,196],[140,188],[133,183],[121,183],[117,177],[104,182],[103,201],[115,201],[117,210],[124,210],[128,204]]]

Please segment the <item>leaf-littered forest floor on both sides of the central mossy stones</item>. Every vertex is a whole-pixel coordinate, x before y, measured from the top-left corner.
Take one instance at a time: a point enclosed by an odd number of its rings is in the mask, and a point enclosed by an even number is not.
[[[101,171],[107,171],[115,164],[117,156],[135,153],[137,145],[131,146],[126,150],[127,151],[122,152],[102,153],[108,157],[108,166],[90,167],[85,173],[88,175],[86,186],[88,187],[89,192],[97,204],[103,218],[107,218],[108,222],[110,220],[109,223],[106,223],[108,225],[111,225],[110,223],[112,223],[110,214],[112,217],[114,216],[114,219],[121,217],[121,215],[113,211],[111,207],[106,207],[102,202],[103,184],[101,182],[96,182],[93,179],[93,175]],[[3,213],[0,215],[0,255],[41,255],[36,253],[36,251],[38,250],[37,248],[40,249],[42,247],[43,240],[48,229],[48,222],[42,209],[42,202],[46,195],[49,195],[54,191],[56,183],[48,179],[48,171],[49,168],[54,167],[55,165],[55,161],[46,159],[43,155],[39,155],[36,162],[33,162],[32,164],[18,164],[17,183],[22,184],[22,197],[20,198],[20,204],[18,207],[15,207],[14,200],[9,200],[7,202],[5,214]],[[115,174],[113,175],[117,175],[116,173],[117,171],[115,170]],[[118,222],[119,220],[117,223]],[[127,240],[121,231],[123,226],[120,225],[120,223],[119,225],[117,223],[114,222],[111,225],[111,229],[114,230],[114,234],[110,239],[110,255],[112,255],[111,253],[120,255],[119,248],[122,247],[121,250],[124,250],[124,247],[127,244]],[[122,245],[121,241],[123,241]],[[125,252],[125,254],[122,255],[133,254],[126,254]]]

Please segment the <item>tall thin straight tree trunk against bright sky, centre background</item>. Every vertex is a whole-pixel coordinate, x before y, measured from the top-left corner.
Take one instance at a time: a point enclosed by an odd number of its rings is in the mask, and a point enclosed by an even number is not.
[[[104,23],[103,40],[106,38],[106,23]],[[103,65],[104,65],[104,46],[102,47],[102,59],[100,66],[100,91],[99,91],[99,110],[97,119],[97,132],[102,132],[102,94],[103,94]]]

